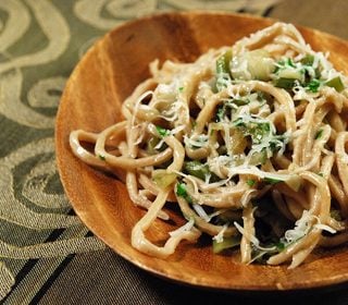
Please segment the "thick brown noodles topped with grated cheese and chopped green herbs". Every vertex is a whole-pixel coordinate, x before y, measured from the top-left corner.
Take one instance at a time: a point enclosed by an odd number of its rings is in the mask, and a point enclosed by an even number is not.
[[[348,240],[348,81],[327,57],[275,23],[192,63],[157,60],[124,120],[73,131],[72,151],[122,176],[147,209],[138,251],[165,258],[203,233],[216,254],[295,268]],[[169,219],[166,202],[186,223],[157,245],[145,232]]]

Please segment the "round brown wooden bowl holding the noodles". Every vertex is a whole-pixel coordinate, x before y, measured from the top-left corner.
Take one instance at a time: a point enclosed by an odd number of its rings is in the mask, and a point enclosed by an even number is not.
[[[69,134],[76,129],[100,132],[121,119],[121,103],[149,76],[154,59],[194,61],[210,48],[234,44],[274,21],[225,13],[166,13],[126,23],[99,40],[77,64],[65,87],[57,119],[57,157],[67,197],[84,223],[119,255],[160,277],[223,290],[295,290],[348,280],[348,251],[339,247],[312,255],[295,270],[287,266],[245,266],[239,254],[214,255],[203,242],[183,243],[167,259],[147,256],[130,245],[134,224],[144,210],[129,200],[125,185],[75,158]],[[348,44],[331,35],[299,28],[314,50],[348,73]],[[172,223],[157,220],[151,239],[183,223],[169,208]],[[163,233],[164,232],[164,233]]]

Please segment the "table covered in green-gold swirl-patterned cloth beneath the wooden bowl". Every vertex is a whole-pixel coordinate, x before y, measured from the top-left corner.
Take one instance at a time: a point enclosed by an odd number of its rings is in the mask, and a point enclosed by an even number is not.
[[[125,261],[74,216],[54,159],[54,117],[72,70],[127,20],[197,9],[348,39],[346,0],[0,0],[0,304],[348,304],[347,284],[226,293],[171,283]]]

